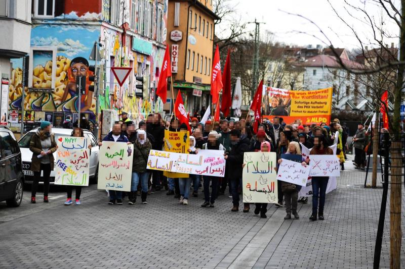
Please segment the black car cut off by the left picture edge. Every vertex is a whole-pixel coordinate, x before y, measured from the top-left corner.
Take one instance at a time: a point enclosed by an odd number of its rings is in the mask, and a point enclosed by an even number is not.
[[[0,126],[0,201],[19,206],[22,201],[24,174],[17,140],[7,127]]]

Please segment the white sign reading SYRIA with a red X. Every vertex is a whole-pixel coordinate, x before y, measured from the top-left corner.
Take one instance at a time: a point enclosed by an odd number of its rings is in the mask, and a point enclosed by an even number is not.
[[[340,177],[340,162],[336,155],[309,155],[311,177]]]

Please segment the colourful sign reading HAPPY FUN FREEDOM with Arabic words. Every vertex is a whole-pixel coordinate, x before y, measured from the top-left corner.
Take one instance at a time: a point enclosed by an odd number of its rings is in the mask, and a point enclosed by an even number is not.
[[[55,184],[89,186],[87,138],[59,137],[55,158]]]

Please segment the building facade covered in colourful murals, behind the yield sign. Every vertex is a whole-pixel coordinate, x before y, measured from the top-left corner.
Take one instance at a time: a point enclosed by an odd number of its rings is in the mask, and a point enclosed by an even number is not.
[[[163,109],[161,102],[155,102],[153,87],[166,48],[167,9],[167,0],[32,0],[29,83],[22,102],[21,83],[12,81],[18,90],[9,96],[10,110],[19,111],[23,104],[29,112],[26,120],[45,118],[58,127],[66,116],[74,120],[79,102],[80,111],[92,122],[96,111],[126,111],[140,120],[154,108]],[[15,72],[21,69],[18,62],[12,63]],[[98,110],[97,90],[88,87],[93,84],[89,79],[80,100],[75,93],[80,65],[100,68]],[[132,68],[122,86],[111,67]],[[83,72],[87,78],[92,75],[86,68]],[[148,90],[141,93],[143,98],[135,94],[137,76],[146,77]]]

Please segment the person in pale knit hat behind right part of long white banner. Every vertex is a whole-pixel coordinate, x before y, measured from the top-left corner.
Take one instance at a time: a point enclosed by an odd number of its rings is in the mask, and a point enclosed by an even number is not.
[[[211,131],[208,135],[208,142],[203,145],[203,149],[223,150],[225,147],[219,142],[220,135],[216,131]],[[217,198],[218,177],[204,176],[204,203],[202,207],[214,207],[215,199]],[[210,196],[210,181],[211,181],[211,196]]]

